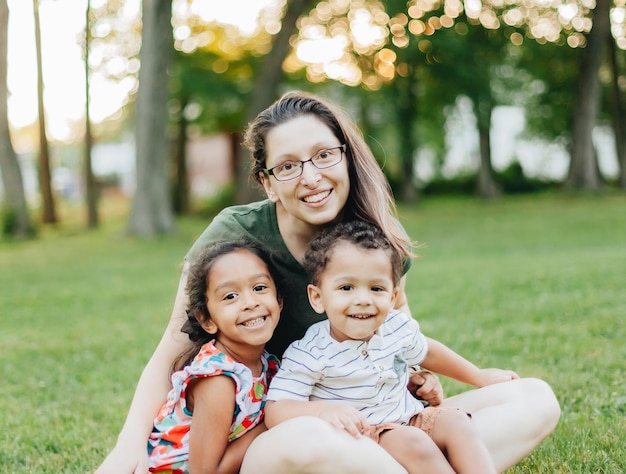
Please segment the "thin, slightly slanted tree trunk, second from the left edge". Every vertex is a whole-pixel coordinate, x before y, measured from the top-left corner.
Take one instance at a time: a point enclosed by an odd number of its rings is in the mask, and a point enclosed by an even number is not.
[[[43,106],[43,71],[41,61],[41,26],[39,23],[39,0],[33,0],[35,14],[35,50],[37,53],[37,109],[39,112],[39,189],[43,206],[42,222],[54,224],[57,216],[52,193],[50,153],[46,136],[46,115]]]

